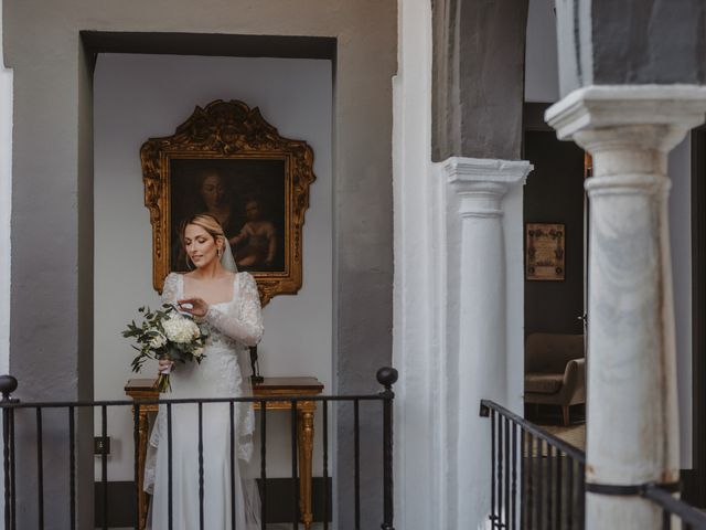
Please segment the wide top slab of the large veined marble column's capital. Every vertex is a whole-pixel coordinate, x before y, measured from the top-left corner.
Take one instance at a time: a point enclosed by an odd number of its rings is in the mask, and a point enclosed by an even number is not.
[[[592,85],[576,89],[552,105],[544,117],[559,139],[582,130],[660,126],[664,150],[704,121],[706,86]]]

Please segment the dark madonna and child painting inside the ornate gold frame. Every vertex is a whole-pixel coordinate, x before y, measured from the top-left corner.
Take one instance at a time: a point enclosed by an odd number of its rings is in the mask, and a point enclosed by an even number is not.
[[[195,213],[210,213],[223,225],[238,271],[285,272],[286,184],[284,160],[172,159],[172,271],[190,269],[179,240],[181,224]]]

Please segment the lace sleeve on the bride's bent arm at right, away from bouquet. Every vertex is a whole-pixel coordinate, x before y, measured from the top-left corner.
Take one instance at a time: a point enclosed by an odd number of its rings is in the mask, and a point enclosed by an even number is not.
[[[245,346],[256,346],[263,338],[263,315],[260,298],[255,278],[247,273],[239,273],[238,303],[224,312],[213,306],[208,307],[206,320],[212,326]]]

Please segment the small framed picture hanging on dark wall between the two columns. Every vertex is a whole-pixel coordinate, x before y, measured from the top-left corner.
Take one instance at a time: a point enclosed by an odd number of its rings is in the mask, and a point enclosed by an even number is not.
[[[566,226],[561,223],[525,225],[525,278],[563,280]]]

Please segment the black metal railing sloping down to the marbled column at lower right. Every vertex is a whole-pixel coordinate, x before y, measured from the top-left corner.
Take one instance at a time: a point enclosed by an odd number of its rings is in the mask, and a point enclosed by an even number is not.
[[[492,528],[580,530],[588,490],[650,500],[664,530],[706,530],[706,513],[674,497],[678,485],[586,484],[584,451],[492,401],[481,401],[481,416],[491,421]]]

